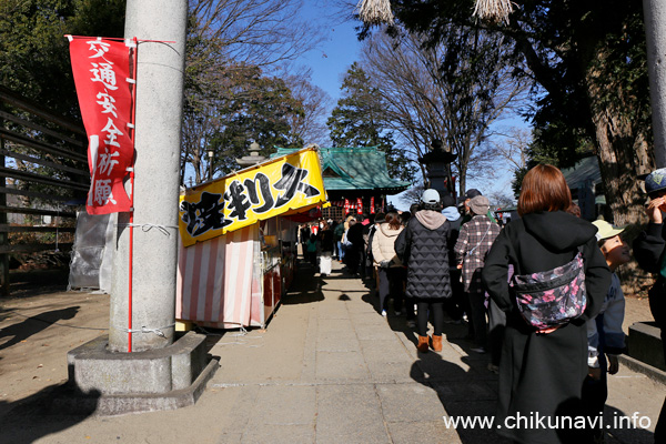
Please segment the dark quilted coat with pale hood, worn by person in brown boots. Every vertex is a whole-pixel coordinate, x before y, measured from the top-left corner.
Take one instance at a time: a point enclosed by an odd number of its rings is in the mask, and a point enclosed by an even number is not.
[[[451,297],[448,225],[441,213],[422,210],[395,240],[395,253],[407,264],[407,297]]]

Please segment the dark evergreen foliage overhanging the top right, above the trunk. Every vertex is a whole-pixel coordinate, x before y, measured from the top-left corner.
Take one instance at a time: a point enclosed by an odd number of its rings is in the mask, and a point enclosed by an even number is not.
[[[398,20],[443,39],[448,23],[495,30],[507,48],[525,60],[535,80],[536,110],[531,113],[541,148],[561,167],[573,165],[598,140],[594,114],[630,122],[627,135],[649,128],[649,94],[643,7],[639,0],[519,1],[508,23],[472,18],[472,0],[394,0]],[[516,74],[525,72],[516,71]],[[630,145],[630,143],[629,143]]]

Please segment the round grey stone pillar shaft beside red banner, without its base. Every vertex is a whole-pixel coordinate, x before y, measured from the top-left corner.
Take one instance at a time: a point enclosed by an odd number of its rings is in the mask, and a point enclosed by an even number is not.
[[[139,43],[132,351],[173,342],[186,0],[128,0],[125,37]],[[119,214],[109,349],[128,351],[129,213]],[[147,224],[163,225],[163,230]],[[141,330],[144,329],[144,332]]]

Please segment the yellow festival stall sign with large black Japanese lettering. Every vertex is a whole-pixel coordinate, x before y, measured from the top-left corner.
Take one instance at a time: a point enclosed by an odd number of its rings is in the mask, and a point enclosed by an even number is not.
[[[306,148],[189,189],[181,199],[179,229],[183,245],[190,246],[324,202],[319,154]]]

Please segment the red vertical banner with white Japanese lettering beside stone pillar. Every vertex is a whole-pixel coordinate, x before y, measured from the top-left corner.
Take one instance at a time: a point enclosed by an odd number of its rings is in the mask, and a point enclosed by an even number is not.
[[[134,147],[130,47],[133,42],[93,37],[70,39],[70,57],[83,124],[88,133],[89,214],[130,211],[123,180],[132,167]]]

